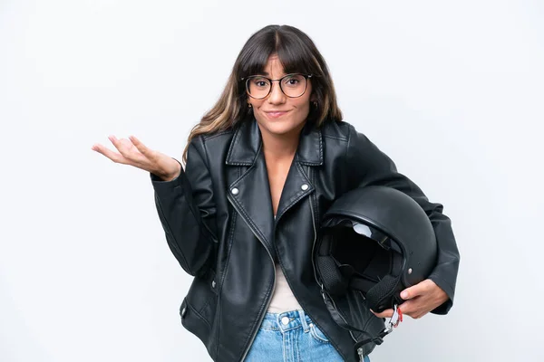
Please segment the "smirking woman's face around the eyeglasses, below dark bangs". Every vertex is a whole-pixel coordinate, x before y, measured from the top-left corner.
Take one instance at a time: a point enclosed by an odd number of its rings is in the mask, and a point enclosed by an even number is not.
[[[272,80],[278,80],[286,73],[277,58],[271,55],[263,74]],[[248,96],[248,103],[253,107],[253,114],[261,132],[274,136],[297,134],[306,123],[310,111],[312,83],[308,79],[305,93],[298,98],[287,97],[279,88],[279,82],[272,82],[272,90],[265,99],[256,100]]]

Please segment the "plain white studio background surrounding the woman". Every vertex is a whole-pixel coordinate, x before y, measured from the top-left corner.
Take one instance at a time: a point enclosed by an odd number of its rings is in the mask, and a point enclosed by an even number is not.
[[[251,33],[292,24],[355,124],[453,221],[449,315],[373,362],[542,361],[541,1],[0,1],[0,361],[207,361],[147,173],[180,157]]]

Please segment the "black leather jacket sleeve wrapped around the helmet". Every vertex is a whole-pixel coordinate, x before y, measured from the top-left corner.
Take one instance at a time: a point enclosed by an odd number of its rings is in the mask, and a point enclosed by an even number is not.
[[[397,172],[390,157],[380,151],[368,138],[350,125],[347,146],[347,174],[350,188],[371,185],[390,186],[411,196],[429,216],[438,244],[437,263],[429,279],[449,297],[434,314],[446,314],[452,308],[460,254],[452,231],[452,222],[442,214],[442,205],[431,203],[423,191],[408,177]]]

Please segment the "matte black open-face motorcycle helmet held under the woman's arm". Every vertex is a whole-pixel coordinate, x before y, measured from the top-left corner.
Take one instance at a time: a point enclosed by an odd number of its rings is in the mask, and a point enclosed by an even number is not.
[[[360,323],[375,316],[360,314],[396,311],[403,302],[400,292],[425,280],[436,264],[429,217],[412,197],[391,187],[345,193],[326,211],[320,234],[314,257],[325,304],[338,324],[367,336],[372,326]],[[375,336],[384,333],[370,335],[380,344]]]

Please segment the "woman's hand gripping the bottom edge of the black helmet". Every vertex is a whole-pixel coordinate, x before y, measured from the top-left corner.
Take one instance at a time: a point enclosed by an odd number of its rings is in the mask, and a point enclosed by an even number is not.
[[[419,319],[442,305],[444,301],[448,300],[448,295],[434,281],[426,279],[402,291],[401,298],[406,300],[399,306],[403,315]],[[372,312],[374,313],[374,311]],[[381,313],[374,313],[374,315],[380,318],[390,318],[393,316],[393,310],[384,310]]]

